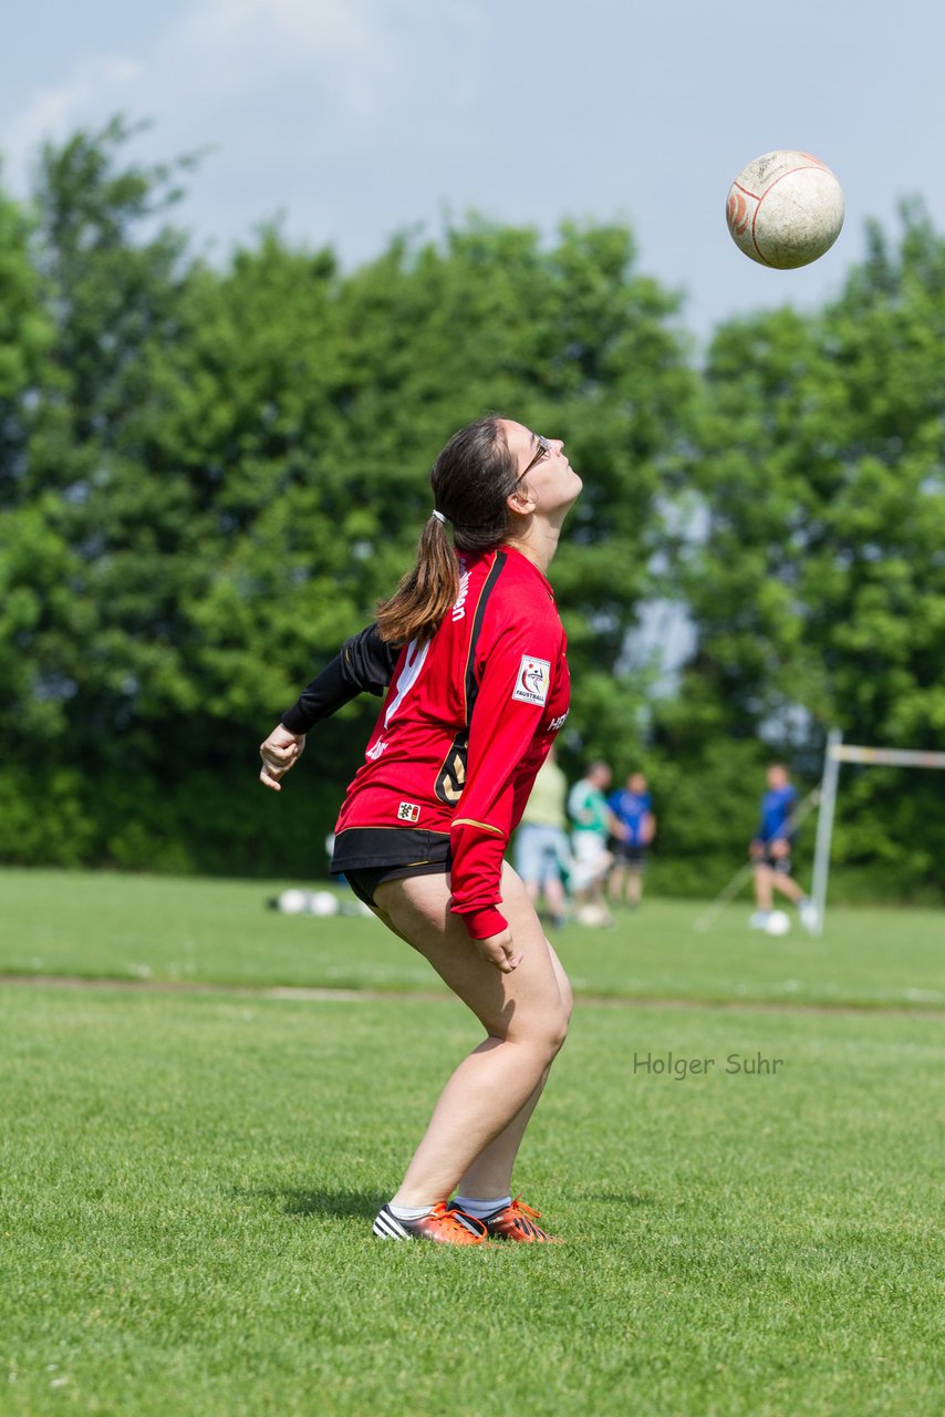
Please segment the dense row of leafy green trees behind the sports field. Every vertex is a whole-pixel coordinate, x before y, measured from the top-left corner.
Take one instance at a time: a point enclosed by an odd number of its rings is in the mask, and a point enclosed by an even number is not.
[[[826,730],[945,738],[945,241],[919,205],[823,309],[698,359],[622,225],[476,218],[346,271],[262,227],[173,221],[187,163],[116,119],[0,191],[0,860],[310,876],[377,701],[290,794],[256,743],[409,564],[425,472],[487,410],[585,478],[554,565],[589,757],[643,768],[667,888],[744,857],[761,769]],[[684,619],[669,676],[647,608]],[[934,774],[844,769],[850,891],[931,897]],[[932,781],[929,781],[932,779]]]

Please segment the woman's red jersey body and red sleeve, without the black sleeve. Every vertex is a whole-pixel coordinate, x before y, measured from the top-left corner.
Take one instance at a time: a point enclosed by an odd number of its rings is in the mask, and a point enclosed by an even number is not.
[[[459,555],[459,595],[394,666],[336,832],[449,833],[452,910],[473,939],[507,928],[502,857],[568,714],[565,635],[545,577],[511,548]]]

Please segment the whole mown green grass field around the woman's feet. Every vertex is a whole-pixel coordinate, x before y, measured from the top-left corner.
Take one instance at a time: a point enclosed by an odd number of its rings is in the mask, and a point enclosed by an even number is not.
[[[941,915],[562,931],[611,999],[519,1183],[567,1243],[473,1255],[370,1221],[475,1023],[268,893],[0,873],[0,971],[215,985],[0,986],[4,1417],[939,1417]]]

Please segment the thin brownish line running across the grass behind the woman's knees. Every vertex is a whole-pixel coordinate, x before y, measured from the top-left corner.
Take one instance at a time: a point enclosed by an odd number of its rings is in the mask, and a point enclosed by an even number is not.
[[[0,986],[37,989],[106,989],[113,993],[184,993],[221,995],[234,999],[282,999],[351,1003],[363,999],[405,1000],[408,1003],[452,1003],[453,995],[435,989],[332,989],[306,985],[231,985],[194,979],[95,979],[82,975],[0,973]],[[605,1009],[714,1009],[718,1013],[854,1013],[883,1017],[945,1019],[945,1009],[900,1007],[874,1003],[775,1003],[751,999],[652,999],[640,995],[577,993],[578,1005]]]

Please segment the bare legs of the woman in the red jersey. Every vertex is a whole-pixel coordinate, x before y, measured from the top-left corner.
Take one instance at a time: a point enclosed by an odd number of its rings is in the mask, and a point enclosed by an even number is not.
[[[483,961],[462,920],[451,914],[448,877],[384,881],[375,891],[383,918],[429,959],[487,1034],[443,1088],[392,1197],[395,1204],[435,1204],[460,1179],[469,1183],[469,1178],[476,1180],[479,1193],[485,1182],[499,1182],[507,1189],[521,1132],[564,1041],[571,1000],[567,981],[562,990],[561,965],[510,867],[503,870],[502,888],[503,913],[514,947],[523,952],[511,973]],[[494,1151],[486,1158],[493,1144]],[[485,1162],[480,1172],[473,1165],[479,1158]]]

